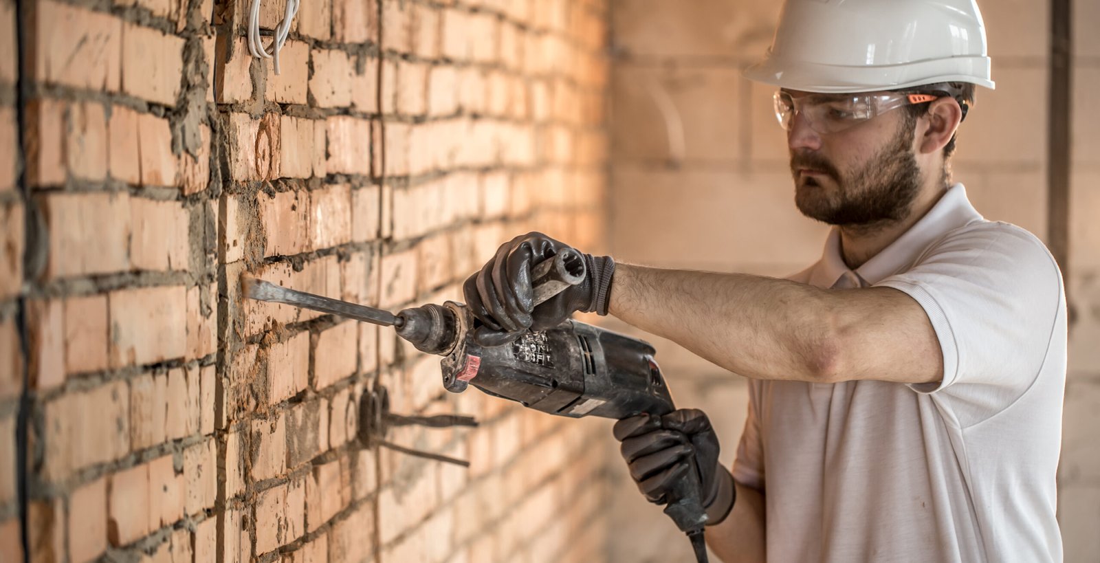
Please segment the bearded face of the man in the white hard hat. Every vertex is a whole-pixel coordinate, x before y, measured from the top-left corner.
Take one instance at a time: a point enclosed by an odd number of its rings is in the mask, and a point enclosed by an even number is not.
[[[799,210],[846,227],[904,219],[922,185],[913,131],[904,111],[831,134],[814,132],[795,117],[788,147]]]

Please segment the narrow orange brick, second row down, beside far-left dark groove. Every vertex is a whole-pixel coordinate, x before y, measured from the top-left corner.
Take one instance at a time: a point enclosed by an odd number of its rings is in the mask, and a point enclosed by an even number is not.
[[[65,112],[58,100],[35,99],[28,102],[30,143],[26,155],[28,180],[33,186],[65,181]]]

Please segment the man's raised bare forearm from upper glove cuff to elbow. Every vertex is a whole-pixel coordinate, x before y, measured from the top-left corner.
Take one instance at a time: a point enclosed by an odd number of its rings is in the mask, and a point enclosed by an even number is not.
[[[817,380],[825,297],[784,279],[618,264],[609,312],[746,377]]]

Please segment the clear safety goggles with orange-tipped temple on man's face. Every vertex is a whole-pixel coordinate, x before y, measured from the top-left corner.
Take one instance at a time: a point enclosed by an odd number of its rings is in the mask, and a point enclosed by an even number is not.
[[[798,98],[779,90],[776,119],[790,131],[794,115],[800,114],[810,129],[820,134],[836,133],[877,118],[902,106],[926,103],[939,99],[931,93],[810,93]]]

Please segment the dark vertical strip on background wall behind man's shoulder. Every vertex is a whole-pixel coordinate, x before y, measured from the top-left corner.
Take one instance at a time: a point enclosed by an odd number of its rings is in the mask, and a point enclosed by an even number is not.
[[[1047,240],[1069,279],[1070,107],[1072,96],[1071,0],[1050,1],[1050,106],[1047,122]],[[1068,299],[1067,299],[1068,300]]]

